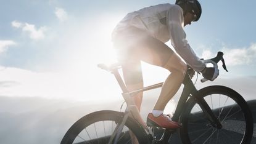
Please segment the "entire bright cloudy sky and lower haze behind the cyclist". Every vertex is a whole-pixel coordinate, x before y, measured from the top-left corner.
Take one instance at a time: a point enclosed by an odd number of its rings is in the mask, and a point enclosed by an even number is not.
[[[0,124],[0,143],[59,143],[68,127],[81,116],[99,109],[118,110],[122,103],[120,87],[112,74],[97,68],[98,63],[116,62],[112,30],[128,12],[175,3],[0,2],[0,121],[4,124]],[[188,42],[201,58],[212,58],[223,51],[229,72],[220,63],[220,75],[215,81],[201,83],[192,79],[197,89],[223,85],[246,100],[255,100],[256,1],[200,3],[200,20],[184,28]],[[170,42],[167,45],[173,49]],[[146,63],[142,63],[142,70],[145,86],[162,82],[169,74]],[[159,92],[160,89],[144,93],[144,117]],[[175,95],[171,103],[175,105],[178,98]],[[169,105],[169,110],[173,105]]]

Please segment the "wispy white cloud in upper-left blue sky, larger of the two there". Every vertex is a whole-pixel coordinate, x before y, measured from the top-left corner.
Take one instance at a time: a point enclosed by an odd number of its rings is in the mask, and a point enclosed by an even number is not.
[[[45,32],[47,30],[46,26],[41,26],[40,28],[36,29],[35,25],[30,23],[21,23],[14,20],[12,22],[12,26],[14,28],[20,28],[23,32],[27,33],[30,39],[39,40],[45,38]]]

